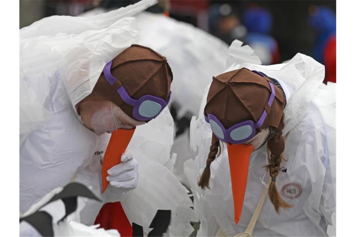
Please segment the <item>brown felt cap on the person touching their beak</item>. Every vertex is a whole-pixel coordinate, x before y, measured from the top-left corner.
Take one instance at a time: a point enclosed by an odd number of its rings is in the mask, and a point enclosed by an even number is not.
[[[111,86],[102,72],[90,100],[112,101],[133,119],[133,107],[126,104],[116,92],[121,85],[134,99],[152,95],[167,101],[173,80],[167,59],[156,51],[137,44],[131,45],[112,60],[111,74],[117,79],[115,84]]]

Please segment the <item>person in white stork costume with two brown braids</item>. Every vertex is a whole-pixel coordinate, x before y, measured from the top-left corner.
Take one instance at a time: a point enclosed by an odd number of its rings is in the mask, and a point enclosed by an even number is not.
[[[241,45],[190,124],[198,236],[333,236],[335,84],[309,56],[262,66]]]

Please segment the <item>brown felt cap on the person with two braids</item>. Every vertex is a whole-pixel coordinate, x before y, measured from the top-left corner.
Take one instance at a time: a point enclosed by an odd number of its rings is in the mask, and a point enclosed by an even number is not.
[[[283,116],[283,92],[273,84],[276,97],[269,108],[271,95],[268,77],[262,77],[246,68],[225,72],[213,77],[204,112],[215,115],[226,129],[246,120],[257,122],[263,110],[267,117],[260,129],[278,128]],[[256,130],[256,134],[259,129]]]

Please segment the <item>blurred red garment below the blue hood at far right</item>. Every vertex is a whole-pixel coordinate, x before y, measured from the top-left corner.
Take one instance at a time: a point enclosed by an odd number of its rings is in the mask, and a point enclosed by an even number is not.
[[[325,80],[336,83],[336,36],[331,36],[324,49]]]

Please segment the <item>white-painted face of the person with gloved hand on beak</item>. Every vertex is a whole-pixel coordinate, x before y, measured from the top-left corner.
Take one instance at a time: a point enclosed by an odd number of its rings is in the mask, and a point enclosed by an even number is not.
[[[130,118],[111,101],[87,101],[81,103],[78,109],[84,126],[97,135],[145,124]]]

